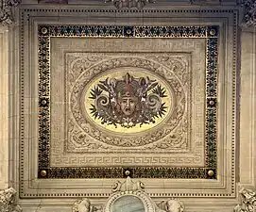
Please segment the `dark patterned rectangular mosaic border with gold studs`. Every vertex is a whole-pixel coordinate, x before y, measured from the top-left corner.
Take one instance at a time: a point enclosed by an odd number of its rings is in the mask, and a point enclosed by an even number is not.
[[[205,167],[50,167],[50,49],[54,37],[200,38],[207,43]],[[118,178],[124,171],[136,178],[216,178],[218,26],[93,26],[39,25],[39,178]]]

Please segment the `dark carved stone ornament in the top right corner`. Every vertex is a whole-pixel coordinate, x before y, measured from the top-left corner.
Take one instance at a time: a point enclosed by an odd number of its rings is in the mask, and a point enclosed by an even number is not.
[[[256,26],[256,0],[240,0],[239,4],[245,8],[243,26]]]

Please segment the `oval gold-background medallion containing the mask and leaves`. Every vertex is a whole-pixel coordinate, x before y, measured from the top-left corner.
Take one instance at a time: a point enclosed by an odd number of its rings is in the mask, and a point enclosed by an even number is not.
[[[169,86],[157,74],[122,67],[100,74],[83,92],[87,118],[115,133],[139,133],[163,122],[172,108]]]

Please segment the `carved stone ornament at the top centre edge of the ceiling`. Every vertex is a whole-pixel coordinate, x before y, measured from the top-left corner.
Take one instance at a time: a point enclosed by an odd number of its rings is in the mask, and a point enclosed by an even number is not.
[[[116,8],[142,9],[147,3],[156,3],[157,0],[104,0],[104,2],[111,2]]]

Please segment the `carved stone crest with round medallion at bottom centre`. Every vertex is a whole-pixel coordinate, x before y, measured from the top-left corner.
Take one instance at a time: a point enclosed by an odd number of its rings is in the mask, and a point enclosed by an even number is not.
[[[184,205],[178,199],[170,198],[156,204],[145,193],[145,185],[130,177],[123,183],[118,181],[112,188],[107,202],[98,207],[84,198],[75,202],[72,212],[183,212]]]

